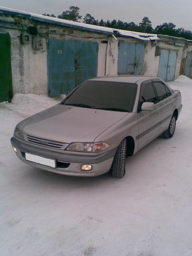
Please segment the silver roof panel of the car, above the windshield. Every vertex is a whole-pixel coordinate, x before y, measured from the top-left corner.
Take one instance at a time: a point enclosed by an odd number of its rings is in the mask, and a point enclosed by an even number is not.
[[[158,79],[158,77],[135,76],[135,75],[116,75],[116,76],[100,76],[89,79],[89,81],[109,81],[120,83],[137,83],[138,81],[147,81],[149,79]],[[160,80],[160,79],[159,79]]]

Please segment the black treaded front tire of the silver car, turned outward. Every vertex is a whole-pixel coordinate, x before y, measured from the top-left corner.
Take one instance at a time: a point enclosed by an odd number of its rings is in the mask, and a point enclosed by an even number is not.
[[[115,178],[123,178],[125,175],[126,144],[126,139],[119,144],[111,165],[111,173]]]

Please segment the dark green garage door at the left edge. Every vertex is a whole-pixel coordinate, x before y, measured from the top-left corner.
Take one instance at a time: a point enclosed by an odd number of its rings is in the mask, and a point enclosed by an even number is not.
[[[11,101],[11,50],[9,34],[0,34],[0,102]]]

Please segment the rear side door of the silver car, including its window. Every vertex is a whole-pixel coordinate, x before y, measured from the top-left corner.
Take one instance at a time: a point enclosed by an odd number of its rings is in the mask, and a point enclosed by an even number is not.
[[[161,112],[161,132],[164,132],[170,124],[171,116],[174,110],[174,99],[171,95],[169,88],[158,80],[153,80],[153,84],[156,90],[158,98],[158,109]]]

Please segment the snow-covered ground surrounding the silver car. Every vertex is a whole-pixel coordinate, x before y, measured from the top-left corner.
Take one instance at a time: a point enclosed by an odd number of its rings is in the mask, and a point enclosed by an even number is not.
[[[0,105],[2,256],[192,255],[192,80],[169,84],[183,102],[174,137],[127,158],[123,179],[25,165],[10,144],[14,126],[58,101],[17,94]]]

